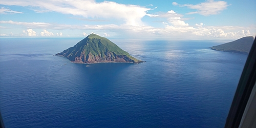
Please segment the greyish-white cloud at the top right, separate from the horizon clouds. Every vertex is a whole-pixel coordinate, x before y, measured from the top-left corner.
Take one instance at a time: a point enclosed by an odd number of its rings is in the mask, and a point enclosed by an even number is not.
[[[177,6],[179,5],[180,7],[188,7],[190,9],[196,9],[197,11],[195,12],[189,12],[186,14],[201,14],[201,15],[215,15],[219,14],[222,10],[227,8],[227,2],[224,1],[214,1],[214,0],[208,0],[204,3],[200,3],[197,5],[191,5],[191,4],[184,4],[180,5],[176,2],[173,2],[173,5]]]

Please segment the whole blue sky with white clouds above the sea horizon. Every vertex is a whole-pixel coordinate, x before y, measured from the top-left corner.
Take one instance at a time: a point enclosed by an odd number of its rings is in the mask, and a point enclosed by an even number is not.
[[[1,0],[0,37],[232,40],[256,34],[255,0]]]

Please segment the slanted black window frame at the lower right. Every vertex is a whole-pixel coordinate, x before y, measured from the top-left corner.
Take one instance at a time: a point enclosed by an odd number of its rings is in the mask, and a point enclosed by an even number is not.
[[[256,38],[247,57],[237,91],[229,110],[225,128],[239,127],[251,91],[256,81]]]

